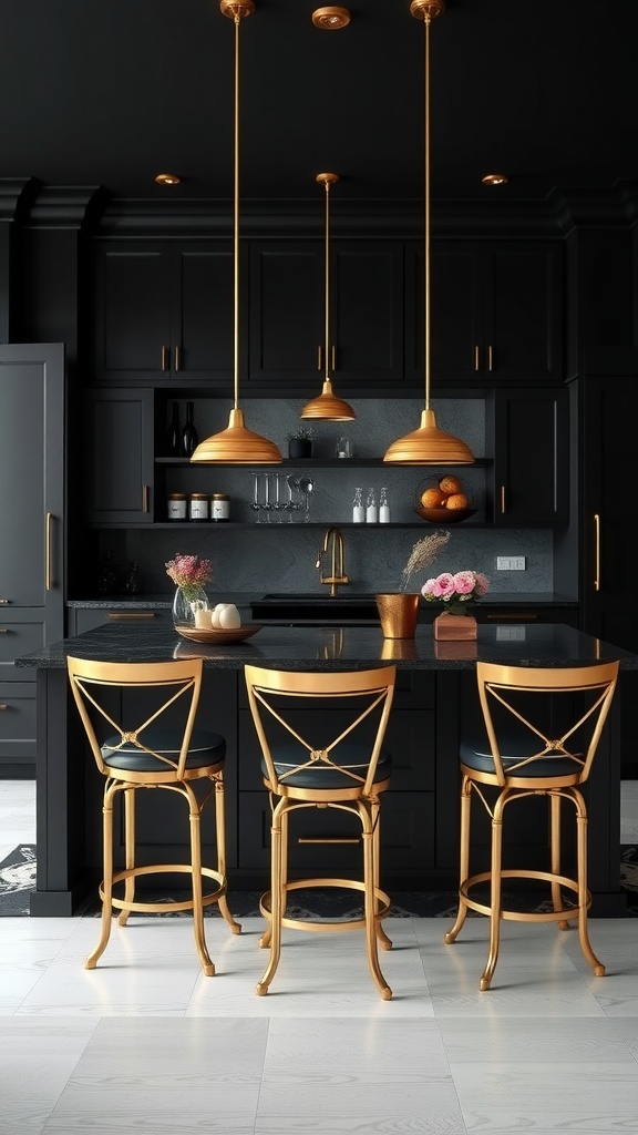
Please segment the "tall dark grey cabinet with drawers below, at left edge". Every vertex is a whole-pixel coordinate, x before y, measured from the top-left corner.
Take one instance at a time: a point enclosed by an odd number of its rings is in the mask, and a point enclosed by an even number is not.
[[[65,350],[0,345],[0,777],[33,775],[35,674],[64,636]]]

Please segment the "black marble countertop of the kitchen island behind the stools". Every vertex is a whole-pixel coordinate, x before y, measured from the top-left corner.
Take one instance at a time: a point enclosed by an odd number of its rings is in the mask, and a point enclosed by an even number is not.
[[[504,665],[578,666],[619,658],[638,670],[638,655],[562,623],[478,627],[472,642],[437,642],[420,625],[413,639],[384,639],[379,627],[262,627],[245,642],[203,646],[171,627],[114,623],[16,659],[17,667],[60,670],[67,655],[102,662],[162,662],[201,657],[212,669],[245,663],[286,670],[352,670],[394,662],[403,670],[472,670],[477,659]]]

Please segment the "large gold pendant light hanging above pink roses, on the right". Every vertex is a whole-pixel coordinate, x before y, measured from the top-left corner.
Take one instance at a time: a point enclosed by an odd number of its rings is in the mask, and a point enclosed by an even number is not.
[[[394,465],[471,465],[475,457],[464,442],[445,434],[430,409],[430,24],[445,11],[444,0],[412,0],[410,12],[426,25],[426,405],[419,429],[400,437],[384,461]]]

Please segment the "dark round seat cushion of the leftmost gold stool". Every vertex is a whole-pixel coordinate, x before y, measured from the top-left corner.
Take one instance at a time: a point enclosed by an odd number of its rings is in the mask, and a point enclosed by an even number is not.
[[[142,745],[156,753],[161,753],[170,760],[179,759],[179,749],[184,732],[178,729],[153,729],[149,726],[141,735]],[[102,757],[109,768],[121,768],[135,773],[166,773],[169,766],[145,753],[133,742],[120,746],[120,737],[109,737],[102,746]],[[116,748],[116,746],[120,746]],[[115,751],[114,751],[115,750]],[[204,768],[207,765],[218,765],[226,756],[226,740],[220,733],[194,729],[191,734],[186,768]]]

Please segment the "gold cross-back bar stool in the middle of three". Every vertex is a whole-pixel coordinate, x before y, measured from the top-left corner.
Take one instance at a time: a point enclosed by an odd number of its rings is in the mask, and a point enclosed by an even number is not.
[[[363,930],[370,973],[384,1001],[389,1001],[392,990],[377,952],[378,941],[384,949],[392,948],[381,927],[391,900],[379,889],[379,800],[389,785],[391,757],[383,741],[396,667],[326,674],[246,666],[245,678],[272,812],[270,890],[260,901],[269,923],[260,945],[270,948],[270,958],[255,992],[266,994],[275,976],[282,927],[328,933]],[[305,725],[303,712],[299,713],[309,706],[327,711],[314,713],[312,725]],[[302,734],[310,730],[316,735],[308,740]],[[362,881],[288,878],[288,816],[309,808],[338,809],[355,818],[363,843]],[[330,886],[362,892],[363,918],[311,922],[286,914],[291,892]]]

